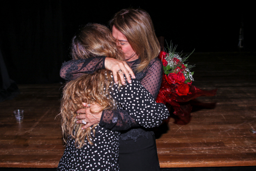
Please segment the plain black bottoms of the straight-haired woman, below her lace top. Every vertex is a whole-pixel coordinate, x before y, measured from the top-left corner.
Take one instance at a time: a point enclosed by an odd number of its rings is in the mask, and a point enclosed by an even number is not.
[[[120,171],[160,171],[155,136],[120,140],[118,165]]]

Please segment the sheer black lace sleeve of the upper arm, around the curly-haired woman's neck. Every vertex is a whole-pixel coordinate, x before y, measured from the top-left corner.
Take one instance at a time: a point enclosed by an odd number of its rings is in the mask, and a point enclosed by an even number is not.
[[[60,76],[70,81],[83,74],[92,74],[99,69],[105,68],[105,59],[105,56],[101,56],[64,62],[61,67]]]

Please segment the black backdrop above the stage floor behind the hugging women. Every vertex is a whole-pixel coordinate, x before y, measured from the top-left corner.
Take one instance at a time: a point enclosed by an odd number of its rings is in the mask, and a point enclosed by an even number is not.
[[[70,60],[70,40],[79,26],[107,25],[115,12],[128,7],[149,12],[157,36],[172,40],[177,52],[237,52],[241,22],[242,51],[254,51],[256,15],[252,4],[243,2],[10,1],[0,5],[0,49],[10,78],[18,84],[63,81],[59,70]]]

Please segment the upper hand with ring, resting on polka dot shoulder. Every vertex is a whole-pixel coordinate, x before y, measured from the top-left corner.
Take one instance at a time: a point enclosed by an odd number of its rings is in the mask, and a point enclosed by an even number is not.
[[[113,73],[113,77],[114,77],[114,81],[116,84],[118,84],[118,70],[122,70],[122,72],[119,73],[120,79],[122,81],[122,84],[125,84],[125,77],[127,78],[128,83],[131,83],[131,77],[135,78],[134,72],[132,71],[131,67],[125,62],[125,61],[120,61],[117,59],[113,59],[113,58],[108,58],[106,57],[105,59],[105,68],[112,71]],[[131,77],[130,77],[130,75]]]

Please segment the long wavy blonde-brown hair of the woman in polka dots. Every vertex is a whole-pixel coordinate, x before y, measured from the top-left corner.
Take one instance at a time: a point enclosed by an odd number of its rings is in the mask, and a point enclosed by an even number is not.
[[[115,59],[124,59],[121,49],[116,46],[111,31],[103,25],[89,24],[77,32],[72,39],[72,57],[74,59],[86,59],[97,56],[108,56]],[[83,103],[99,103],[103,109],[115,109],[115,103],[110,96],[109,87],[112,87],[112,73],[106,69],[93,74],[85,74],[80,78],[68,82],[63,89],[61,99],[61,127],[63,139],[66,144],[70,139],[75,140],[75,146],[81,148],[86,140],[93,145],[95,127],[81,130],[82,124],[76,124],[76,116],[80,115],[77,110],[85,108]],[[121,81],[119,79],[119,86]],[[91,111],[92,113],[102,112]],[[85,139],[86,138],[86,139]]]

